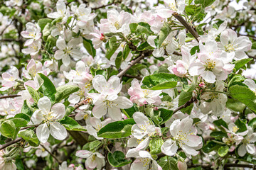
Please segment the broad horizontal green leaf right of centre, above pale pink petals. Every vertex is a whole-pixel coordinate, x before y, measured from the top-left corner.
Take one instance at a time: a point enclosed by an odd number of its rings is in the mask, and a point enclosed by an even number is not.
[[[144,77],[142,88],[150,90],[171,89],[176,87],[178,78],[174,74],[157,73]]]

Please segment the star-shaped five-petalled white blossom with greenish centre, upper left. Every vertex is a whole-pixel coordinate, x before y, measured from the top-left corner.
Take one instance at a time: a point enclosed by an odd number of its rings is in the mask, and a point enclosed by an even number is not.
[[[78,59],[82,57],[80,50],[76,47],[78,44],[80,44],[80,38],[70,40],[68,45],[66,45],[63,38],[59,38],[56,42],[56,46],[59,50],[54,54],[55,59],[62,59],[63,64],[68,67],[70,64],[70,56]]]

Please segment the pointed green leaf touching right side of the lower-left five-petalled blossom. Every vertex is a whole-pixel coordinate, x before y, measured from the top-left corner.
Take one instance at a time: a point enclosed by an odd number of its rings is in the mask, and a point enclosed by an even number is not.
[[[63,125],[67,130],[86,131],[86,129],[82,128],[82,126],[79,125],[77,121],[68,116],[65,116],[63,120],[60,120],[60,124]]]

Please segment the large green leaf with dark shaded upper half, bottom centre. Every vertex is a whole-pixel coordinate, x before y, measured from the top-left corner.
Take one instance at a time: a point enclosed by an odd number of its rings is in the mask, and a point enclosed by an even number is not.
[[[101,128],[99,132],[97,132],[97,136],[108,139],[128,137],[129,135],[132,135],[132,125],[134,124],[135,122],[133,119],[126,119],[109,123],[105,125],[105,127]]]

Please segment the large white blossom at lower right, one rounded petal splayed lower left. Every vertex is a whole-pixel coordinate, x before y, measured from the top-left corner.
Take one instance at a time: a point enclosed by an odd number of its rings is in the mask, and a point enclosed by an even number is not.
[[[187,117],[182,120],[174,120],[170,126],[170,132],[173,140],[166,140],[161,146],[161,151],[164,154],[173,156],[178,150],[178,145],[189,158],[191,155],[196,156],[198,154],[196,149],[202,147],[202,138],[196,135],[193,119]]]

